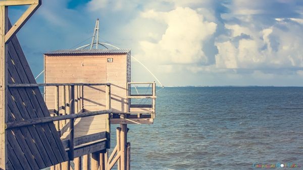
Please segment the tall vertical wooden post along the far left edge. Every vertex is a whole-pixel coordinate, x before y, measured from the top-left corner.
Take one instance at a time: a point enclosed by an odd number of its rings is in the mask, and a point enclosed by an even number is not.
[[[8,7],[0,7],[0,169],[7,169],[8,154],[7,154],[7,132],[5,123],[7,122],[7,83],[8,83],[8,49],[5,44],[5,34],[8,31]]]

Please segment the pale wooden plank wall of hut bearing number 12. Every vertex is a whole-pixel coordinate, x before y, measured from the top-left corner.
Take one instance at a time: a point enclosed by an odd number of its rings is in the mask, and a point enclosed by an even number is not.
[[[126,54],[45,55],[44,57],[45,83],[112,83],[111,104],[113,111],[119,113],[127,112]],[[113,58],[114,62],[107,62],[107,58]],[[55,108],[54,91],[54,87],[45,88],[45,101],[49,109]],[[84,87],[83,93],[84,109],[89,111],[105,109],[104,86]]]

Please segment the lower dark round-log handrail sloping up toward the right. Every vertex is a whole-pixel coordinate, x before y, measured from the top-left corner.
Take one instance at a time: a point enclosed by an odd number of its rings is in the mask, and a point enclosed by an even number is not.
[[[36,124],[42,124],[42,123],[48,123],[48,122],[55,122],[55,121],[60,121],[60,120],[76,119],[76,118],[96,116],[96,115],[102,115],[102,114],[111,114],[111,113],[113,113],[112,109],[94,111],[94,112],[83,112],[83,113],[78,113],[78,114],[62,115],[62,116],[55,116],[55,117],[35,118],[35,119],[30,119],[30,120],[22,120],[22,121],[18,121],[18,122],[7,123],[5,125],[5,129],[12,129],[12,128],[18,128],[18,127],[24,127],[24,126],[30,126],[30,125],[36,125]]]

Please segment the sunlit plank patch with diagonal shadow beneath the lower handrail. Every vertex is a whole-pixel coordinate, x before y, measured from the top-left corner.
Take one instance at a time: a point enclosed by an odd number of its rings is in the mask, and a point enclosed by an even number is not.
[[[106,132],[106,115],[97,115],[75,119],[75,138],[100,132]],[[68,138],[69,130],[67,130],[61,136],[61,139]]]

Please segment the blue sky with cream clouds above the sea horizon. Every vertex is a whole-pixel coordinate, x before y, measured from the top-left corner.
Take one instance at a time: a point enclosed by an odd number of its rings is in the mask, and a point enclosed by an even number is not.
[[[303,86],[300,0],[43,0],[17,34],[34,75],[43,53],[89,44],[97,18],[100,41],[131,48],[164,86]],[[132,79],[156,81],[134,60]]]

